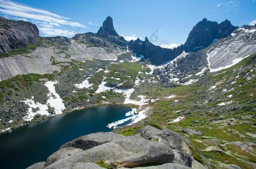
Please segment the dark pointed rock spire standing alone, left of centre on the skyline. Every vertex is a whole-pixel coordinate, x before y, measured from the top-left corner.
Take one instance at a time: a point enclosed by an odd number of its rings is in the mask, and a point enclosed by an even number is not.
[[[106,20],[104,20],[103,25],[99,28],[97,32],[98,36],[107,37],[108,35],[118,36],[118,33],[115,31],[113,26],[113,19],[108,16]]]

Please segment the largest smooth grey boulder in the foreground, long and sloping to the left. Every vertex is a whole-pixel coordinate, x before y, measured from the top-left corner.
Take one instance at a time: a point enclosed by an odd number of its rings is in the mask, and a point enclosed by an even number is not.
[[[111,160],[118,161],[128,167],[134,167],[142,164],[170,163],[173,159],[174,153],[166,144],[135,136],[127,136],[84,150],[71,157],[56,161],[50,166]]]

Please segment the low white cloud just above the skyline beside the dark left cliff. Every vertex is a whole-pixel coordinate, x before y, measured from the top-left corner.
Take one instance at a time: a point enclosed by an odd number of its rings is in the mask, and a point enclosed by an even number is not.
[[[39,28],[42,33],[44,33],[44,36],[65,36],[65,37],[73,37],[76,32],[69,31],[69,30],[62,30],[57,28],[47,28],[42,27]]]

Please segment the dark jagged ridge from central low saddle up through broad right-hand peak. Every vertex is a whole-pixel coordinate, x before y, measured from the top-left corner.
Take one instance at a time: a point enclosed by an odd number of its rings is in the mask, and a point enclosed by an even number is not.
[[[216,42],[217,39],[227,37],[236,28],[238,27],[233,26],[228,20],[218,24],[204,18],[193,27],[185,44],[177,48],[161,48],[150,43],[147,38],[145,38],[145,41],[131,40],[129,47],[134,53],[144,55],[144,59],[149,59],[154,65],[161,65],[176,58],[183,50],[185,52],[195,52],[204,49]]]

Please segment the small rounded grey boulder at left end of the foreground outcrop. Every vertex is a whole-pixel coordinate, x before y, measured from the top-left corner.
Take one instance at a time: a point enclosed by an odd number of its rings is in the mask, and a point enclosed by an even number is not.
[[[54,163],[55,161],[58,161],[60,159],[64,159],[69,156],[73,156],[79,152],[83,151],[82,149],[77,149],[73,147],[63,148],[59,149],[58,151],[55,151],[52,155],[50,155],[47,160],[45,161],[45,166],[49,166],[50,164]]]

